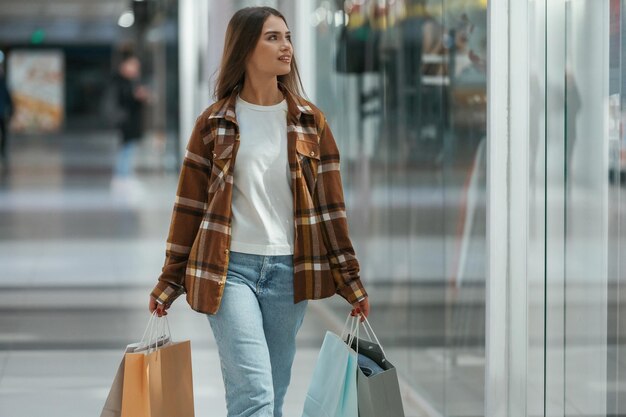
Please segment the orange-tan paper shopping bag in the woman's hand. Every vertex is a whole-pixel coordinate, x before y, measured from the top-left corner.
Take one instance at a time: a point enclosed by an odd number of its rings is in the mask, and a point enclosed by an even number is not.
[[[121,417],[194,417],[191,343],[124,355]]]

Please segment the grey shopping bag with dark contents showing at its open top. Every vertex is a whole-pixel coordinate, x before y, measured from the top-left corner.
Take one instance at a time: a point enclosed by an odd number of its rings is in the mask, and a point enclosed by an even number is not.
[[[404,417],[396,368],[387,359],[367,318],[363,326],[369,340],[349,338],[350,346],[359,355],[357,370],[359,417]],[[371,339],[370,331],[375,341]]]

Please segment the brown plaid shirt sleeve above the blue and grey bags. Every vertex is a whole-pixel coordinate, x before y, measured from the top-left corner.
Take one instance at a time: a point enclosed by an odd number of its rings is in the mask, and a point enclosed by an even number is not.
[[[328,252],[337,293],[350,304],[362,301],[367,292],[361,283],[359,262],[348,236],[348,221],[339,170],[339,150],[323,118],[320,134],[320,164],[315,185],[315,205],[321,216],[322,238]]]

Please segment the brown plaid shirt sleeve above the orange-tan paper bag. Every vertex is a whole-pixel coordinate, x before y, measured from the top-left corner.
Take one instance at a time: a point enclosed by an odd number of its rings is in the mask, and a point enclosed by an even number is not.
[[[186,147],[178,179],[165,249],[165,264],[152,293],[157,302],[171,304],[185,292],[185,269],[207,202],[212,158],[205,143],[208,126],[198,117]]]

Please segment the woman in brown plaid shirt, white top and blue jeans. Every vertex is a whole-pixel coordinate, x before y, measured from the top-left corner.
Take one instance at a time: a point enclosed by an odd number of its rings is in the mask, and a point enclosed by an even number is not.
[[[270,7],[235,13],[217,102],[187,145],[150,296],[159,316],[182,293],[207,314],[228,416],[282,416],[307,300],[338,293],[352,315],[369,313],[337,146],[299,87],[285,18]]]

